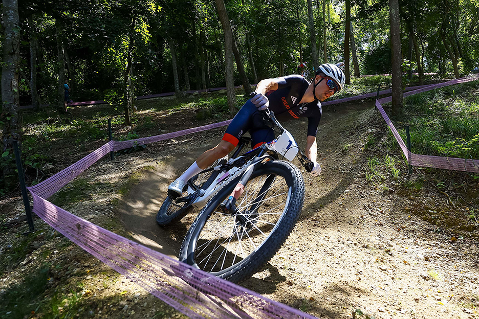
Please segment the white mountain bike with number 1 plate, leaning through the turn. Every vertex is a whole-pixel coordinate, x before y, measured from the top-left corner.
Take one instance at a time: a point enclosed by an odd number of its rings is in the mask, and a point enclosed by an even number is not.
[[[165,225],[193,207],[202,209],[183,240],[179,259],[236,283],[276,254],[301,212],[303,177],[282,159],[298,157],[307,171],[313,168],[274,113],[262,112],[265,123],[279,129],[275,140],[240,156],[250,142],[242,137],[229,160],[220,159],[188,180],[180,197],[169,194],[157,215],[157,222]]]

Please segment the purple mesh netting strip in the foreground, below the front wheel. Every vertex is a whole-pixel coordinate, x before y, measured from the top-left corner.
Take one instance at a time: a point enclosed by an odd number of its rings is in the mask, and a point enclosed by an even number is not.
[[[116,235],[32,191],[31,194],[33,211],[41,219],[86,252],[191,318],[314,318]]]

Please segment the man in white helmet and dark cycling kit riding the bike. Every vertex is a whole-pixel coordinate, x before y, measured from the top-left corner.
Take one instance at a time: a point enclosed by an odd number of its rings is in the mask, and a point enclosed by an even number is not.
[[[325,63],[318,67],[313,82],[309,83],[300,75],[265,79],[256,86],[256,95],[238,111],[226,129],[222,141],[204,152],[198,159],[168,187],[168,193],[179,196],[186,181],[199,174],[216,159],[228,155],[247,131],[251,135],[251,146],[256,148],[275,138],[274,131],[264,121],[262,110],[269,107],[278,121],[308,118],[306,156],[314,163],[311,174],[319,175],[321,167],[316,162],[316,132],[321,119],[321,103],[342,89],[344,73],[335,64]]]

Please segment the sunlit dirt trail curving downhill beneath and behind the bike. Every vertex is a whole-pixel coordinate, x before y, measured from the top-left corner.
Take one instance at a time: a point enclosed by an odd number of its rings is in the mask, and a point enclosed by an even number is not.
[[[323,172],[318,179],[302,170],[307,195],[293,233],[262,271],[242,285],[318,317],[352,317],[359,309],[357,318],[477,318],[477,245],[467,239],[450,241],[410,216],[406,207],[421,198],[366,183],[370,154],[363,148],[368,134],[383,130],[378,123],[371,104],[323,109],[318,131]],[[306,121],[285,127],[303,146]],[[207,142],[191,139],[166,150],[175,158],[161,162],[129,193],[120,216],[135,240],[177,255],[194,214],[167,227],[158,226],[155,215],[167,185],[219,141],[221,132],[214,135],[203,136]]]

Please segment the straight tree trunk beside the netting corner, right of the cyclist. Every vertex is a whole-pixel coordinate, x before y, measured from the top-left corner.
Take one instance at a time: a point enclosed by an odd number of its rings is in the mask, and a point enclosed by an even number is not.
[[[398,0],[389,0],[389,22],[391,33],[391,49],[393,49],[392,66],[392,84],[393,84],[393,115],[402,116],[403,114],[403,92],[401,79],[401,33],[399,29],[399,2]]]

